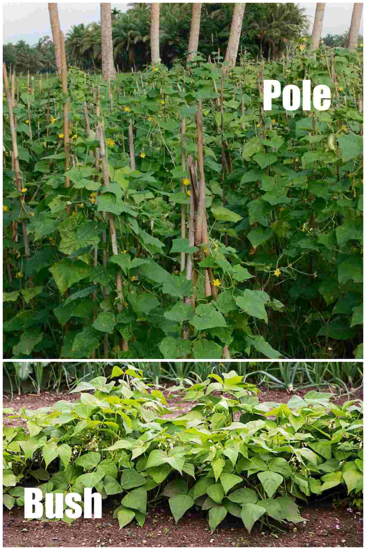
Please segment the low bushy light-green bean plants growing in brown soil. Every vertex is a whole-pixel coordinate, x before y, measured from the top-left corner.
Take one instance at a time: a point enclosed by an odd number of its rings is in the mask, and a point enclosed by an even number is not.
[[[329,489],[360,502],[361,401],[337,406],[329,393],[308,392],[286,405],[259,404],[257,388],[230,371],[190,386],[184,399],[197,404],[166,419],[164,396],[148,391],[141,375],[115,366],[118,384],[102,376],[82,382],[78,401],[4,409],[26,421],[26,430],[3,429],[5,506],[24,505],[22,484],[36,480],[43,493],[95,487],[102,498],[122,497],[114,511],[120,527],[143,525],[148,508],[168,500],[176,522],[195,506],[209,510],[211,532],[227,514],[250,532],[259,519],[277,529],[302,521],[296,499]]]

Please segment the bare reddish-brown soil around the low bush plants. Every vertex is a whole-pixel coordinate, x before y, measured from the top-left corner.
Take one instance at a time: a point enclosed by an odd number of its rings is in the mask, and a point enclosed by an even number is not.
[[[304,395],[309,389],[296,392]],[[292,394],[284,390],[269,390],[258,394],[260,401],[287,403]],[[323,389],[323,392],[327,389]],[[173,415],[189,411],[193,404],[182,401],[177,395],[164,392]],[[3,399],[4,407],[37,409],[50,406],[60,399],[74,401],[80,394],[42,392],[41,395],[24,394],[20,397]],[[362,399],[362,390],[351,395],[351,399]],[[335,402],[342,404],[347,396]],[[171,416],[171,415],[167,415]],[[14,420],[4,420],[4,425],[16,425]],[[103,519],[79,518],[69,526],[63,521],[25,520],[24,509],[4,508],[4,547],[362,547],[363,514],[357,509],[346,508],[344,503],[318,502],[300,503],[303,523],[282,526],[286,533],[259,532],[257,525],[251,534],[237,518],[229,516],[210,533],[207,513],[191,511],[178,524],[168,508],[150,510],[145,525],[141,528],[131,523],[119,530],[118,521],[112,519],[113,509],[119,501],[109,499],[103,502]]]

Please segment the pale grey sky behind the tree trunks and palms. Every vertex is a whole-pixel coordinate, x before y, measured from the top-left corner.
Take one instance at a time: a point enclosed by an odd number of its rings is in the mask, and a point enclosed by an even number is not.
[[[315,2],[300,2],[309,16],[310,31],[315,14]],[[112,8],[125,12],[127,3],[112,4]],[[353,2],[328,2],[325,4],[323,21],[323,36],[328,34],[343,34],[351,24]],[[59,19],[61,30],[66,34],[72,25],[100,20],[99,2],[59,2]],[[31,45],[44,35],[52,36],[47,2],[4,2],[3,12],[3,43],[25,40]],[[361,22],[361,32],[363,19]]]

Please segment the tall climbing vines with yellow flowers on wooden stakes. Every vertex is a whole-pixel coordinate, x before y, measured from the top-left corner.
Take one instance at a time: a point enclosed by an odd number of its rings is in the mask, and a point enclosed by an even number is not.
[[[94,79],[69,73],[67,173],[60,84],[50,89],[48,125],[47,92],[20,94],[14,113],[21,193],[14,189],[4,107],[5,356],[200,360],[220,359],[226,349],[231,357],[362,357],[362,59],[335,51],[335,87],[326,52],[306,57],[302,49],[261,70],[286,84],[301,83],[305,74],[313,86],[328,84],[331,108],[311,116],[286,113],[280,102],[263,114],[258,68],[245,56],[224,79],[223,122],[215,91],[220,63],[197,58],[188,72],[177,64],[120,75],[112,83],[112,108],[100,83],[108,187],[92,154],[100,145]],[[30,123],[24,122],[27,101]],[[184,117],[185,152],[195,157],[198,102],[204,246],[181,238],[181,205],[189,219],[190,202],[181,189],[189,194],[191,183],[181,164],[181,123]],[[118,254],[108,217],[115,220]],[[27,224],[28,258],[20,226],[14,238],[15,222]],[[193,259],[192,280],[179,273],[182,252]],[[206,270],[216,299],[205,290]],[[194,307],[182,302],[193,297]]]

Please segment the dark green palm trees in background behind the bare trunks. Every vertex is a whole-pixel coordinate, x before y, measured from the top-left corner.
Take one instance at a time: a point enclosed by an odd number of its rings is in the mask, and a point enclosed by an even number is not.
[[[202,4],[199,51],[209,56],[225,52],[229,38],[234,4]],[[46,4],[44,5],[46,9]],[[188,48],[192,4],[160,5],[160,57],[171,67],[174,59],[185,57]],[[278,58],[286,45],[299,38],[307,28],[303,10],[294,3],[246,4],[239,50]],[[112,10],[112,38],[116,67],[120,71],[142,69],[150,63],[150,4],[139,2],[125,13]],[[101,68],[102,47],[100,24],[73,25],[66,36],[69,63],[83,69]],[[28,69],[36,73],[55,69],[53,43],[44,36],[35,46],[23,40],[3,46],[3,59],[17,72]]]

